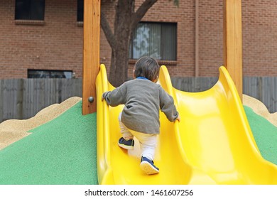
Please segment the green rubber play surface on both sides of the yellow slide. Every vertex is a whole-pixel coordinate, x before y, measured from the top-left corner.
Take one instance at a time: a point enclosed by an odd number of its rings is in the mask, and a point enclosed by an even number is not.
[[[277,128],[244,107],[262,156],[277,164]],[[78,102],[0,151],[0,184],[97,184],[96,114]]]

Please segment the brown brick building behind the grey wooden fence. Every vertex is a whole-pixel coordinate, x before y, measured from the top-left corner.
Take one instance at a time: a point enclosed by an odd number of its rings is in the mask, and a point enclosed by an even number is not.
[[[0,0],[0,79],[26,78],[41,71],[53,72],[51,77],[60,77],[55,76],[60,71],[69,72],[68,77],[82,77],[83,31],[82,22],[77,20],[78,1],[43,0],[43,19],[39,20],[22,20],[20,13],[16,16],[18,2],[22,0]],[[141,2],[137,0],[136,4]],[[177,7],[173,1],[157,1],[141,23],[142,27],[175,27],[171,35],[176,41],[170,50],[173,55],[161,56],[160,63],[167,65],[171,76],[217,76],[223,64],[223,1],[179,2]],[[102,11],[111,26],[115,4],[102,0]],[[276,17],[277,1],[242,1],[245,76],[277,75]],[[102,31],[100,43],[100,63],[109,70],[111,49]]]

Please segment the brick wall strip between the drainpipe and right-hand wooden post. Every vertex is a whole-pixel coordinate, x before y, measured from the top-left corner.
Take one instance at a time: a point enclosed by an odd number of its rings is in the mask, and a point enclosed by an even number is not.
[[[223,65],[223,1],[199,1],[199,75],[218,75]]]

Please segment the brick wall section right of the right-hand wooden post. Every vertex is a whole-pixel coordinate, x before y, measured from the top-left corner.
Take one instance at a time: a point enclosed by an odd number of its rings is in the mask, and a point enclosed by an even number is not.
[[[277,75],[277,1],[242,1],[244,73]]]

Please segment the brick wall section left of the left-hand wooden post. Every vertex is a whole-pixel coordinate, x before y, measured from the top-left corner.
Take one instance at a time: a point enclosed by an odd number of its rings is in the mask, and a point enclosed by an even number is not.
[[[27,77],[27,69],[73,70],[82,77],[82,27],[77,1],[45,1],[45,23],[14,21],[15,1],[0,0],[0,78]]]

